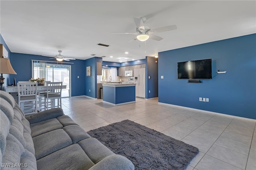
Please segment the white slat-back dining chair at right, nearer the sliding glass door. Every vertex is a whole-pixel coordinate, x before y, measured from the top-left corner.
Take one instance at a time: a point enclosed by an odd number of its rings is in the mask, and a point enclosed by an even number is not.
[[[58,100],[57,107],[61,108],[62,82],[46,83],[46,91],[47,93],[44,95],[44,110],[56,107],[55,99]]]

